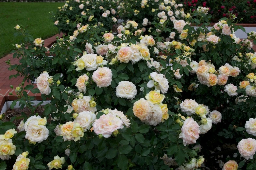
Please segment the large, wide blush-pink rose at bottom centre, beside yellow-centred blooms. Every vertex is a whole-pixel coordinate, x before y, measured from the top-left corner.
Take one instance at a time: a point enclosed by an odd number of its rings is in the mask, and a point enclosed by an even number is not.
[[[93,130],[95,134],[101,134],[105,138],[110,137],[115,130],[123,128],[123,121],[112,114],[103,114],[93,123]]]

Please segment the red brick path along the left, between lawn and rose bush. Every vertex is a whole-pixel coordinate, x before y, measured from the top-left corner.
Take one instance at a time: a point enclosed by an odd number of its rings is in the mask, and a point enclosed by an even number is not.
[[[57,34],[50,38],[47,38],[44,40],[44,47],[50,47],[52,44],[56,42],[56,36],[61,37],[63,34]],[[12,57],[13,53],[3,57],[0,59],[0,111],[2,110],[2,107],[4,106],[5,101],[12,101],[16,100],[17,97],[15,96],[15,91],[10,88],[10,85],[13,85],[13,87],[19,86],[21,84],[24,77],[17,77],[17,78],[11,78],[9,79],[10,75],[16,74],[17,72],[15,70],[9,71],[9,65],[7,65],[5,62],[10,59],[10,63],[13,64],[19,64],[19,59]],[[25,82],[25,86],[27,84],[31,84],[30,82]],[[25,87],[24,86],[24,87]],[[13,95],[9,95],[9,92],[12,92]],[[41,94],[33,94],[30,91],[27,91],[29,96],[35,96],[35,100],[42,100]]]

